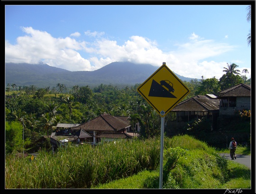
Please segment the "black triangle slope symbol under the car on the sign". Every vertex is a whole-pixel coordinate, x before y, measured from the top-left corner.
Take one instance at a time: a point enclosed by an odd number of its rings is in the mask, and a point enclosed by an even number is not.
[[[172,93],[170,93],[163,86],[158,84],[154,79],[152,80],[151,88],[148,96],[150,97],[169,97],[169,98],[177,98]]]

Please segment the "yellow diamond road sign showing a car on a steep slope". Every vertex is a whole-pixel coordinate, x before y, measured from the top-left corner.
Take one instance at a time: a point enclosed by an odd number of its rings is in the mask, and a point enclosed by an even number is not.
[[[165,65],[165,62],[137,88],[137,91],[161,117],[164,117],[190,93],[182,81]]]

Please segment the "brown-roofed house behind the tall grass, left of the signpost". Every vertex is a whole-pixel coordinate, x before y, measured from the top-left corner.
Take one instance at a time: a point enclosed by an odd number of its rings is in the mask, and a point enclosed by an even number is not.
[[[128,120],[125,121],[124,118],[119,119],[109,114],[103,114],[71,129],[87,132],[93,137],[93,144],[97,144],[102,141],[132,138],[133,136],[127,134],[130,127]]]

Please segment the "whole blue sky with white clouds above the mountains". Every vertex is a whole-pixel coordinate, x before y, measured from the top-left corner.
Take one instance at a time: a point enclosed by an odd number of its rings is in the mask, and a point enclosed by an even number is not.
[[[248,5],[5,5],[5,62],[94,71],[163,62],[219,79],[227,63],[251,76]]]

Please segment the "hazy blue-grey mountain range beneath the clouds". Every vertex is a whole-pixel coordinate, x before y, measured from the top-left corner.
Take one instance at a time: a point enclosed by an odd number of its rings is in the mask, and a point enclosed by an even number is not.
[[[75,85],[97,87],[101,84],[118,87],[142,84],[159,67],[150,64],[131,62],[112,62],[95,71],[68,71],[45,63],[5,63],[5,85],[31,86],[38,88],[56,87],[65,84],[67,88]],[[182,81],[193,78],[183,77],[174,73]]]

